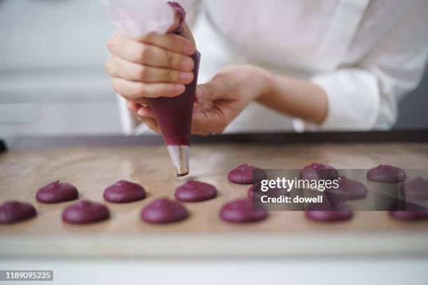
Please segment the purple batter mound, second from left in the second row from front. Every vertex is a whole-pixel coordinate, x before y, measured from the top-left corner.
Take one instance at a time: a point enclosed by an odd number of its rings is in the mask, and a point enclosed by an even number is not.
[[[111,203],[128,203],[145,198],[144,188],[137,183],[119,180],[104,190],[104,199]]]

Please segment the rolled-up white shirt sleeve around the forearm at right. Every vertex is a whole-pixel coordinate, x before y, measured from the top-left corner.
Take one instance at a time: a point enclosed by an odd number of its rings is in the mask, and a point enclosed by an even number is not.
[[[416,7],[402,17],[352,68],[311,78],[328,98],[327,117],[315,129],[389,129],[394,124],[397,101],[418,86],[427,62],[425,13],[425,8]]]

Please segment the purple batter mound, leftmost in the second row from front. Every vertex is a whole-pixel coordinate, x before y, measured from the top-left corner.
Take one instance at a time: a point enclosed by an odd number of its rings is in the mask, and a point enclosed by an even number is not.
[[[78,196],[76,187],[59,180],[41,187],[36,193],[36,199],[41,203],[61,203],[76,200]]]

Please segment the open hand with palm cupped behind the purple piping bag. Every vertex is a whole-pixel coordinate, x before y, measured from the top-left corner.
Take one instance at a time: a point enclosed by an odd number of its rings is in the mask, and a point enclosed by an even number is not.
[[[194,103],[192,133],[206,136],[222,133],[229,123],[253,100],[269,92],[271,75],[254,66],[224,68],[210,82],[197,86],[197,102]],[[151,129],[160,133],[150,107],[128,102],[128,108],[136,113]]]

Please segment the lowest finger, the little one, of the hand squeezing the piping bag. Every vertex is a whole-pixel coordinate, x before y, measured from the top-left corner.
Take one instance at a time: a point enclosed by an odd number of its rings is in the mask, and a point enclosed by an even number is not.
[[[185,85],[174,83],[144,83],[112,78],[112,86],[115,92],[128,101],[136,102],[141,97],[175,97],[185,91]]]

